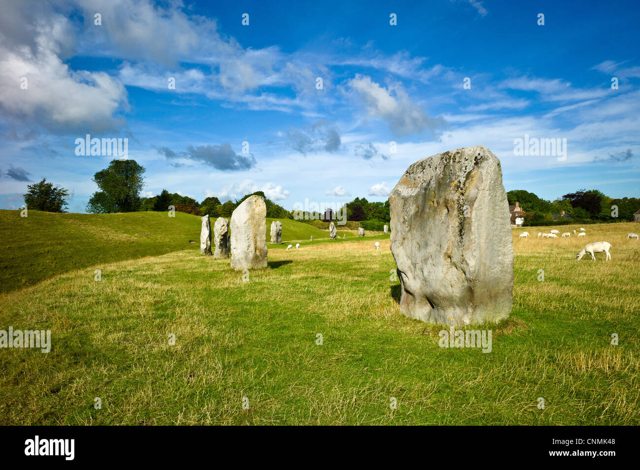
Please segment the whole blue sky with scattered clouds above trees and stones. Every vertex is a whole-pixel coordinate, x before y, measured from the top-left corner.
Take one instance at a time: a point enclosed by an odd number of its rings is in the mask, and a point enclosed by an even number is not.
[[[147,196],[383,201],[413,162],[471,145],[507,191],[640,194],[634,1],[2,4],[0,208],[46,177],[84,212],[113,158],[76,155],[86,134],[128,139]],[[566,139],[566,159],[515,155],[525,134]]]

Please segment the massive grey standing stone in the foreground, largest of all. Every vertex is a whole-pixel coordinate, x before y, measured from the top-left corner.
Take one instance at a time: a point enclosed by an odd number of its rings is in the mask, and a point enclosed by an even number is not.
[[[389,202],[404,315],[452,325],[509,317],[509,207],[500,161],[488,148],[459,148],[415,162]]]

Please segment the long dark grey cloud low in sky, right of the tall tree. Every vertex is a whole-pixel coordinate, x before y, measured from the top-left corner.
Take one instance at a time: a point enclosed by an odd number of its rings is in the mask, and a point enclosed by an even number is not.
[[[246,155],[236,153],[231,148],[230,143],[200,145],[197,147],[189,145],[182,152],[174,152],[168,147],[159,147],[156,150],[160,155],[164,155],[167,160],[175,163],[179,159],[186,159],[192,162],[202,162],[221,171],[241,171],[253,168],[256,164],[253,153],[247,153]]]

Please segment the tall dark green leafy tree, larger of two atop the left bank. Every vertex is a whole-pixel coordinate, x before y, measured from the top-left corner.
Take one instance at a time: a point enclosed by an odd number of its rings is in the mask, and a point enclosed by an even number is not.
[[[145,168],[135,160],[112,160],[108,168],[93,175],[100,191],[93,193],[86,210],[95,214],[138,210],[140,192],[145,185],[143,173]]]

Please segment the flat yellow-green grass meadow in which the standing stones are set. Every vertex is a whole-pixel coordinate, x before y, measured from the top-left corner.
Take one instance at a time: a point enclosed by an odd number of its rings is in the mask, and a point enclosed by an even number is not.
[[[513,313],[483,327],[487,354],[399,314],[384,237],[270,247],[248,281],[193,247],[1,294],[0,329],[53,344],[0,350],[0,424],[638,425],[637,224],[586,228],[513,231]],[[611,262],[575,260],[600,240]]]

